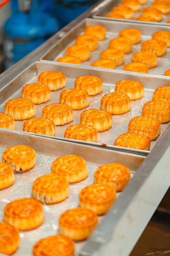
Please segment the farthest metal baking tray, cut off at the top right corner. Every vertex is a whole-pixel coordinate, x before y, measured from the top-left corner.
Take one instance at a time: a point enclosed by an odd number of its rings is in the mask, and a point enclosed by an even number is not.
[[[100,7],[99,11],[96,11],[93,13],[92,17],[93,18],[100,18],[100,19],[106,19],[106,20],[115,20],[115,21],[119,21],[120,19],[116,19],[116,18],[107,18],[105,17],[105,15],[107,13],[111,13],[112,8],[116,7],[117,5],[120,5],[121,0],[112,0],[111,2],[109,2],[108,4],[106,4],[104,7]],[[145,21],[139,21],[139,20],[135,20],[135,18],[139,17],[140,15],[142,15],[142,10],[146,7],[151,7],[151,3],[153,1],[148,0],[146,4],[142,4],[141,5],[141,9],[139,11],[134,11],[134,17],[132,19],[123,19],[122,21],[124,22],[129,22],[129,23],[141,23],[143,25],[145,24],[155,24],[155,25],[165,25],[165,26],[170,26],[169,23],[166,23],[168,20],[170,20],[170,13],[168,14],[163,14],[163,19],[159,22],[145,22]],[[100,4],[102,5],[102,4]]]

